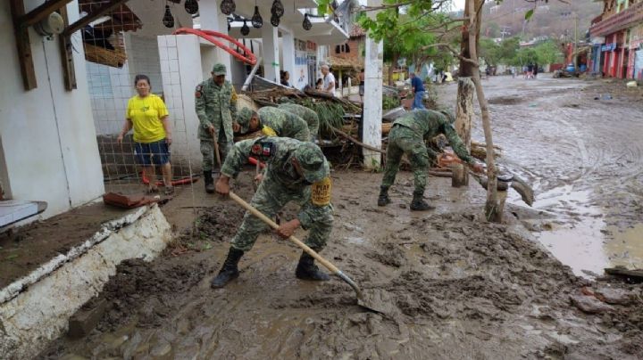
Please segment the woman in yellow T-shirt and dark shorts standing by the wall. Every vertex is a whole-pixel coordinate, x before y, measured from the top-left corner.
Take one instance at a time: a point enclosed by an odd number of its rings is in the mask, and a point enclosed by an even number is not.
[[[154,166],[159,166],[163,172],[165,194],[171,195],[174,188],[171,184],[171,128],[167,107],[160,97],[150,93],[152,87],[146,75],[137,75],[134,85],[138,94],[129,99],[125,124],[116,140],[122,143],[123,136],[134,128],[134,153],[143,167],[143,175],[149,180],[147,192],[158,192]]]

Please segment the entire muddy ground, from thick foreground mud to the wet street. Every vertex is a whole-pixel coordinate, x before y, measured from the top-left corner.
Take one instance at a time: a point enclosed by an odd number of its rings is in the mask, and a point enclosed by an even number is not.
[[[425,198],[436,209],[412,213],[408,172],[380,208],[381,174],[332,173],[335,221],[321,255],[364,292],[383,294],[384,314],[356,306],[355,292],[337,278],[297,280],[300,250],[271,233],[241,259],[237,280],[212,290],[243,210],[212,198],[196,219],[178,216],[177,201],[192,196],[179,189],[163,208],[178,227],[176,242],[152,263],[121,264],[86,306],[103,304],[96,329],[55,340],[39,357],[640,358],[640,284],[591,279],[582,270],[641,264],[635,250],[622,257],[626,247],[640,251],[635,140],[643,125],[633,116],[641,105],[626,97],[632,94],[595,102],[597,83],[485,81],[504,166],[535,185],[534,209],[511,195],[506,223],[487,224],[478,184],[456,189],[430,177]],[[453,85],[439,91],[445,102],[455,96]],[[482,139],[480,128],[474,138]],[[248,169],[235,185],[246,200],[253,174]],[[295,214],[288,207],[283,217]],[[634,235],[623,242],[628,232]]]

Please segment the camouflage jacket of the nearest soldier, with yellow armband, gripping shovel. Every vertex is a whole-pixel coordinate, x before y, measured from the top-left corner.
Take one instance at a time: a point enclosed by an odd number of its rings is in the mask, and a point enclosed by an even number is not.
[[[310,199],[311,185],[304,181],[292,165],[291,159],[300,143],[296,139],[275,136],[242,140],[232,146],[221,167],[221,174],[236,178],[251,156],[265,162],[264,178],[270,177],[279,187],[268,188],[269,192],[275,192],[272,196],[277,197],[280,192],[303,192],[307,195],[308,199],[297,215],[302,227],[307,229],[316,219],[332,213],[333,209],[330,203],[321,206],[313,203]]]

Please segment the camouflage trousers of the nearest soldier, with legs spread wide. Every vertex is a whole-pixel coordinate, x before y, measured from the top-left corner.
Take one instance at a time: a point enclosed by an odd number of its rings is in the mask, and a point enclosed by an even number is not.
[[[301,205],[300,211],[305,212],[305,216],[312,220],[312,224],[306,229],[308,235],[305,237],[304,243],[313,250],[320,251],[330,238],[333,223],[332,206],[317,207],[311,203],[310,198],[310,186],[288,189],[273,180],[266,172],[250,204],[270,218],[274,218],[289,201],[295,201]],[[243,222],[230,241],[230,245],[237,250],[249,251],[255,245],[259,233],[265,232],[269,227],[262,220],[246,211]]]

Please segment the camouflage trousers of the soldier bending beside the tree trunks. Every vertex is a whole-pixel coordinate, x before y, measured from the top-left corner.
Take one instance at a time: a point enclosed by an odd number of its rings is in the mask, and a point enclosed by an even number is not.
[[[394,125],[388,134],[386,166],[381,185],[390,187],[395,182],[402,155],[406,154],[411,162],[415,190],[413,193],[424,193],[426,172],[429,168],[429,154],[422,137],[408,127]]]

